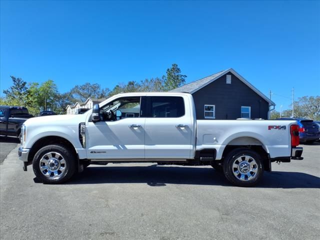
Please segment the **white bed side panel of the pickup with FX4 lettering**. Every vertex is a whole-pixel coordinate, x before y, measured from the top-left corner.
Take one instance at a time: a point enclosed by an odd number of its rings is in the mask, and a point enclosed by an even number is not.
[[[270,157],[290,156],[290,125],[295,120],[197,120],[196,150],[226,145],[261,145]]]

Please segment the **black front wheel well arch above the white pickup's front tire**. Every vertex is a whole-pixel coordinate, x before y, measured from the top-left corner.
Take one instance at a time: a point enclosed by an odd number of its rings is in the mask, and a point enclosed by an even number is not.
[[[28,163],[31,163],[35,153],[43,146],[51,145],[51,144],[61,144],[67,146],[72,153],[77,156],[74,146],[71,142],[67,139],[60,137],[60,136],[45,136],[38,139],[36,142],[33,143],[31,150],[28,155]]]

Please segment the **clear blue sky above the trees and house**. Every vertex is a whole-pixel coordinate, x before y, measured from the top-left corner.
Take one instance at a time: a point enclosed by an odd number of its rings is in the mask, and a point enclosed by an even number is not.
[[[1,1],[0,90],[10,75],[75,84],[232,67],[286,108],[320,94],[319,1]],[[282,95],[282,96],[280,96]]]

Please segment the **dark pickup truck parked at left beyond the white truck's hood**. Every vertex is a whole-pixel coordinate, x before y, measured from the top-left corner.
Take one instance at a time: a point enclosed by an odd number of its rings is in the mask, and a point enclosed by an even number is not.
[[[0,106],[0,135],[19,137],[22,123],[30,117],[26,107]]]

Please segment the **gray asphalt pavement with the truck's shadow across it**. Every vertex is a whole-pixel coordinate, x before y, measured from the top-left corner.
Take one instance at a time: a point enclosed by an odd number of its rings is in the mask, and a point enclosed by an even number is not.
[[[277,165],[256,187],[208,166],[89,166],[60,185],[0,166],[0,239],[319,239],[320,144]]]

